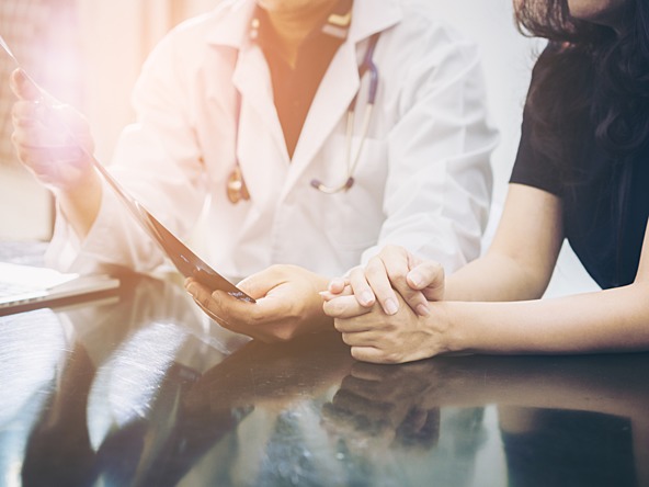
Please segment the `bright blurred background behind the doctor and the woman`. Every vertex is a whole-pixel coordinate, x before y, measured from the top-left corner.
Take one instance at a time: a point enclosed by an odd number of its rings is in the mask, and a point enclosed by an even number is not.
[[[512,0],[430,1],[482,52],[489,105],[501,132],[492,158],[496,185],[489,241],[515,157],[531,68],[543,43],[516,31]],[[151,47],[173,25],[217,2],[2,0],[0,34],[39,83],[88,116],[96,156],[109,160],[121,128],[133,117],[130,90]],[[11,66],[5,57],[0,60],[1,79],[7,80]],[[0,82],[0,239],[47,240],[52,200],[15,161],[9,143],[11,101],[7,82]],[[569,248],[560,262],[557,274],[563,274],[560,281],[567,283],[562,287],[573,288],[576,279],[591,286]]]

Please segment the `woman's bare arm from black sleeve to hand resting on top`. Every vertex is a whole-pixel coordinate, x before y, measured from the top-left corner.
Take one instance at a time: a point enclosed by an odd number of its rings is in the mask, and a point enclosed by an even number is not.
[[[561,201],[545,191],[511,184],[489,251],[446,281],[441,265],[422,261],[400,247],[386,247],[365,269],[349,276],[354,299],[348,316],[380,303],[386,314],[398,309],[397,294],[425,316],[428,301],[520,301],[540,297],[547,287],[563,239]],[[343,283],[333,283],[334,293]],[[376,296],[376,299],[375,299]],[[327,297],[326,297],[327,298]],[[345,299],[338,302],[345,304]]]

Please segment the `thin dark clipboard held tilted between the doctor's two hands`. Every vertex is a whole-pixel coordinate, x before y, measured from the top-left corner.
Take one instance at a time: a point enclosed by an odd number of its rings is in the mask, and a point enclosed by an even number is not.
[[[9,48],[4,38],[0,35],[0,47],[9,55],[13,60],[16,68],[22,66]],[[23,69],[24,71],[24,69]],[[27,75],[29,77],[29,75]],[[30,81],[34,82],[32,78]],[[36,84],[36,83],[34,83]],[[45,102],[45,101],[44,101]],[[67,129],[70,137],[75,138],[71,131],[62,125],[64,129]],[[88,157],[93,167],[98,170],[103,180],[111,186],[117,197],[128,208],[130,215],[140,224],[146,234],[161,248],[161,250],[171,260],[178,271],[185,278],[193,278],[201,284],[205,285],[209,290],[225,291],[230,296],[237,299],[246,301],[249,303],[255,303],[254,298],[239,290],[235,284],[229,282],[214,269],[212,269],[205,261],[196,256],[187,246],[185,246],[178,237],[175,237],[168,228],[166,228],[153,215],[151,215],[136,199],[130,196],[119,183],[111,175],[111,173],[103,167],[103,165],[96,160],[96,158],[89,154],[88,150],[81,145],[79,149]]]

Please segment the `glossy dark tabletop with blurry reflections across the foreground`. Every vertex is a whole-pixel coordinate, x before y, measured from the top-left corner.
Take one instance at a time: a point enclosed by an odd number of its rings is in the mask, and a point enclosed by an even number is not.
[[[648,377],[645,353],[364,364],[134,278],[0,317],[0,485],[649,485]]]

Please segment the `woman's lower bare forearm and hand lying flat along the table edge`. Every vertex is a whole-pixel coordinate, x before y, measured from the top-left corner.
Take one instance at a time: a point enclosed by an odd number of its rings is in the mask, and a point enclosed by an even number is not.
[[[649,250],[649,238],[644,254]],[[510,303],[436,302],[429,315],[378,306],[343,318],[326,310],[357,360],[399,363],[440,353],[582,353],[649,349],[647,258],[635,283],[557,299]]]

